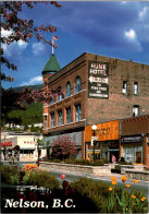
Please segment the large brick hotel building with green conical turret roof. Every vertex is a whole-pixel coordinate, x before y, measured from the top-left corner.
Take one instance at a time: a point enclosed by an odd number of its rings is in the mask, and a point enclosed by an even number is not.
[[[149,114],[147,64],[85,52],[61,69],[52,54],[42,76],[45,91],[63,91],[44,105],[44,134],[76,132],[82,158],[87,126]]]

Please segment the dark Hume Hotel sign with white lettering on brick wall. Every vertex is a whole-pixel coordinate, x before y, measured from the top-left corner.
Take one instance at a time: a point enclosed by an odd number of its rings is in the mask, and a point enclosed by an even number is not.
[[[109,98],[109,63],[88,62],[88,97]]]

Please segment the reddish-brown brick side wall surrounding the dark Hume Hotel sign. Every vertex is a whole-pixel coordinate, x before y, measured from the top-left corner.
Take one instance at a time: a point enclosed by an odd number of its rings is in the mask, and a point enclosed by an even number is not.
[[[134,105],[140,115],[142,110],[149,114],[149,66],[87,55],[88,60],[109,62],[109,99],[87,99],[87,124],[132,117]],[[123,81],[127,81],[127,95],[122,93]],[[138,95],[134,95],[134,82],[138,82]]]

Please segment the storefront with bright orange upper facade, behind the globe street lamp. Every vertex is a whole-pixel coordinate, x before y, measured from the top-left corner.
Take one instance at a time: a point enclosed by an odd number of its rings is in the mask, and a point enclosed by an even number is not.
[[[111,162],[112,154],[120,158],[119,120],[97,124],[96,135],[92,136],[91,126],[85,129],[86,158],[108,159]],[[95,143],[95,147],[94,147]]]

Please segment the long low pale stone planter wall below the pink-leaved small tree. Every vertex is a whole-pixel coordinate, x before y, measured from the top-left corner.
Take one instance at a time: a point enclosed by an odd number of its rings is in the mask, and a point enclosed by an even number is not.
[[[40,162],[40,167],[45,167],[46,169],[62,169],[62,170],[71,170],[75,173],[85,173],[91,174],[95,176],[110,176],[111,168],[109,165],[104,166],[83,166],[83,165],[73,165],[73,164],[60,164],[60,163],[47,163]]]

